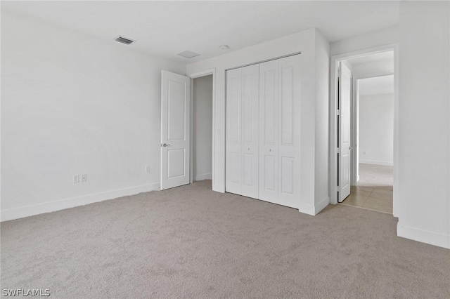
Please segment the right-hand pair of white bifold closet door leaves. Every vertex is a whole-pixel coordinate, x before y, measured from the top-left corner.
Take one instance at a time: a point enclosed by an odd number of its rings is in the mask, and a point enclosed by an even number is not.
[[[259,199],[298,208],[300,55],[259,65]]]

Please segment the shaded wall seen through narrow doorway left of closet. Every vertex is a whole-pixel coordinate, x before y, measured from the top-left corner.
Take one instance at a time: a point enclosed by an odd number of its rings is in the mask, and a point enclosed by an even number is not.
[[[193,178],[212,178],[212,75],[193,79]]]

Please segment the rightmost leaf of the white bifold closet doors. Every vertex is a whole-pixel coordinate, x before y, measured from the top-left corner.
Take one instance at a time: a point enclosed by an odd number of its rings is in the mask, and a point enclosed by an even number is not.
[[[298,207],[300,194],[300,55],[279,60],[278,203]]]

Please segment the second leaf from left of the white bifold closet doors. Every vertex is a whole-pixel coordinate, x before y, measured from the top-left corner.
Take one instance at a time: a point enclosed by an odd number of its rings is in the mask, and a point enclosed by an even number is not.
[[[242,192],[258,198],[259,65],[242,68]]]

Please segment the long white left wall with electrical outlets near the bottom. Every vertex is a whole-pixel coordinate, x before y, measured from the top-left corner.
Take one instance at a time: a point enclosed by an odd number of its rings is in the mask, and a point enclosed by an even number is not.
[[[159,186],[161,69],[186,68],[132,47],[2,8],[2,220]]]

